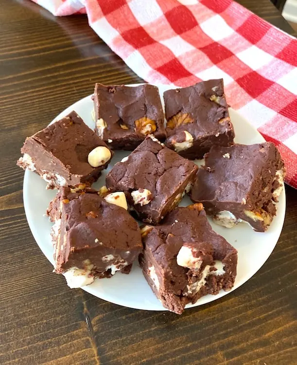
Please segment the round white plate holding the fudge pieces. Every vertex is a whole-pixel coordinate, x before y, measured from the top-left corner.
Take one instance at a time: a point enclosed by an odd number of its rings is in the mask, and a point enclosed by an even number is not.
[[[170,88],[171,87],[168,86],[159,87],[161,100],[163,100],[163,92]],[[75,110],[90,128],[94,128],[94,122],[91,118],[92,108],[93,102],[90,95],[71,105],[59,114],[55,120],[61,119],[71,110]],[[236,134],[235,142],[250,145],[264,141],[261,134],[240,114],[232,109],[229,111]],[[128,151],[116,151],[112,163],[109,165],[108,169],[103,172],[99,181],[93,184],[93,187],[99,188],[102,185],[105,185],[106,173],[110,171],[116,162],[122,160],[122,158],[128,154]],[[28,223],[41,251],[53,264],[53,248],[50,239],[52,223],[45,216],[45,211],[56,191],[46,190],[45,186],[46,183],[40,179],[37,174],[28,170],[25,172],[23,195]],[[189,204],[191,204],[189,197],[184,197],[180,203],[181,206],[187,206]],[[284,216],[285,193],[283,191],[280,195],[280,202],[278,203],[277,216],[265,233],[254,232],[252,228],[245,223],[239,223],[234,228],[227,229],[213,224],[210,220],[213,229],[218,234],[225,237],[227,241],[238,250],[237,277],[232,291],[244,284],[267,260],[280,237]],[[144,279],[138,262],[133,264],[132,271],[129,275],[116,273],[110,279],[97,279],[93,284],[85,286],[83,289],[98,298],[125,307],[143,310],[164,310]],[[188,305],[187,308],[211,302],[227,293],[228,292],[222,290],[217,295],[206,295],[199,299],[195,304]]]

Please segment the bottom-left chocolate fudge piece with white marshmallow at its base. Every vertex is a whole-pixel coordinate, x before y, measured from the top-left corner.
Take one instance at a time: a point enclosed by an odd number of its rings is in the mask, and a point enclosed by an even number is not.
[[[70,288],[117,271],[128,274],[142,250],[140,228],[127,212],[124,194],[99,194],[82,184],[61,187],[47,211],[54,222],[54,271],[65,275]]]

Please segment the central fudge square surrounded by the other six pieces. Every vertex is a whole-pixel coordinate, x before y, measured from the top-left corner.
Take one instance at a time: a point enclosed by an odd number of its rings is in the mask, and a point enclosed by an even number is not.
[[[106,186],[123,191],[144,222],[157,224],[191,189],[197,169],[194,163],[148,136],[115,164],[106,177]]]

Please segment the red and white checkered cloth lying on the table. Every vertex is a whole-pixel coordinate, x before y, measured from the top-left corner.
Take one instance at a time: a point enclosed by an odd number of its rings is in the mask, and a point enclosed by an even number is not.
[[[274,142],[297,188],[297,39],[232,0],[34,0],[90,26],[140,77],[223,78],[227,100]],[[186,5],[187,4],[187,5]]]

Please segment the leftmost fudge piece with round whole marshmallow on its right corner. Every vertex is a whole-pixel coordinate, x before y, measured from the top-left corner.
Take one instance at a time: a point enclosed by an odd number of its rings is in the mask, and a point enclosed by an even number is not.
[[[92,184],[113,155],[75,111],[28,137],[21,153],[17,165],[35,171],[48,189]]]

